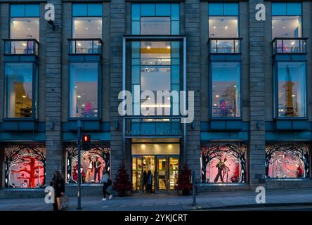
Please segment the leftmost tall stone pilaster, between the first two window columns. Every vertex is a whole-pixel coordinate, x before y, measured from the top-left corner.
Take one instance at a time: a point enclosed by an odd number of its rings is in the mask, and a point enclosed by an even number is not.
[[[54,171],[64,172],[61,124],[63,12],[61,0],[48,0],[47,3],[55,6],[54,24],[58,25],[55,31],[51,25],[46,29],[46,181],[49,181]]]

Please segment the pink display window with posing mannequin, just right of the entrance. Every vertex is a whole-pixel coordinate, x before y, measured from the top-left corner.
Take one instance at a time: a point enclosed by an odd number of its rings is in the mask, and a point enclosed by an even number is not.
[[[246,144],[220,143],[202,146],[202,183],[246,182]]]

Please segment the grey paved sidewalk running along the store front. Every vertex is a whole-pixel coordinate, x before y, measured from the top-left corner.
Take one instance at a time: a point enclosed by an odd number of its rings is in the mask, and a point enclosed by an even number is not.
[[[209,192],[196,196],[197,205],[192,205],[193,197],[157,194],[132,194],[128,197],[113,197],[101,201],[101,195],[82,196],[82,210],[86,211],[166,211],[166,210],[201,210],[235,206],[255,206],[254,191]],[[77,198],[70,197],[70,208],[77,210]],[[267,190],[266,204],[310,204],[311,188]],[[263,205],[261,205],[263,206]],[[52,206],[44,203],[44,198],[1,199],[0,211],[51,211]]]

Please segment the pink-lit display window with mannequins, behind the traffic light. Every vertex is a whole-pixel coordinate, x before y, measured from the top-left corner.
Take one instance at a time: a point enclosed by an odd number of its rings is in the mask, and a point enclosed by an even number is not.
[[[77,184],[78,179],[78,158],[77,147],[67,146],[67,183]],[[92,145],[91,150],[82,150],[82,183],[100,183],[106,169],[110,175],[110,146]]]

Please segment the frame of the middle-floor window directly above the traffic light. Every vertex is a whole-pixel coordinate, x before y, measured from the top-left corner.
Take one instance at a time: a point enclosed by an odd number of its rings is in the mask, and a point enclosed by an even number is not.
[[[72,79],[72,74],[70,72],[70,65],[72,63],[97,63],[98,64],[98,94],[97,94],[97,97],[98,97],[98,117],[71,117],[70,115],[70,92],[71,92],[71,89],[70,89],[70,81]],[[91,61],[72,61],[72,62],[69,62],[68,63],[68,84],[67,84],[67,88],[68,88],[68,97],[67,97],[67,108],[68,108],[68,113],[67,113],[67,120],[70,121],[70,120],[101,120],[102,118],[102,96],[101,96],[101,93],[102,93],[102,63],[100,63],[100,61],[98,60],[91,60]]]

